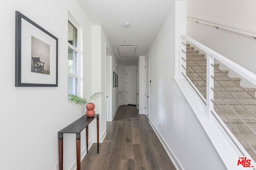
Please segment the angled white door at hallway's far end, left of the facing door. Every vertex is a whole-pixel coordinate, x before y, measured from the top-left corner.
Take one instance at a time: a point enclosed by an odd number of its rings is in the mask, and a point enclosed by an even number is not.
[[[125,105],[125,70],[118,69],[119,106]]]

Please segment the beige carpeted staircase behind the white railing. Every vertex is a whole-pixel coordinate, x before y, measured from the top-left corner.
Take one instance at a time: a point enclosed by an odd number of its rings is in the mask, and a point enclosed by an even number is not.
[[[186,54],[186,75],[206,99],[206,56],[199,54],[199,51],[194,50],[189,44]],[[214,64],[214,68],[219,66],[220,64]],[[229,70],[221,71],[228,76]],[[256,161],[256,154],[252,151],[252,148],[256,150],[256,100],[252,97],[255,96],[256,88],[244,88],[252,94],[251,96],[237,85],[240,85],[241,78],[231,78],[237,83],[235,84],[224,74],[214,69],[214,110]]]

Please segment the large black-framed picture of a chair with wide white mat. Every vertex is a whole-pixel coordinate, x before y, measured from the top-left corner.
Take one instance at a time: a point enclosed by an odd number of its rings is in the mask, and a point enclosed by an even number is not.
[[[16,11],[15,86],[58,86],[58,38]]]

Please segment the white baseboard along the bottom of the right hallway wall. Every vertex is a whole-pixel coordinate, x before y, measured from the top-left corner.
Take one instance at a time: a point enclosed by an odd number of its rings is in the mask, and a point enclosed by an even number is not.
[[[160,140],[160,142],[162,143],[164,149],[166,150],[168,156],[170,157],[170,159],[172,160],[172,163],[174,164],[175,168],[177,170],[183,170],[182,166],[180,165],[179,161],[176,159],[176,157],[174,156],[174,154],[172,153],[172,150],[170,150],[170,148],[168,147],[168,145],[166,145],[166,142],[164,141],[164,139],[162,138],[162,136],[160,135],[160,133],[158,133],[156,127],[154,126],[154,124],[152,123],[152,121],[149,119],[148,120],[151,127],[153,128],[153,130],[155,131],[158,139]]]

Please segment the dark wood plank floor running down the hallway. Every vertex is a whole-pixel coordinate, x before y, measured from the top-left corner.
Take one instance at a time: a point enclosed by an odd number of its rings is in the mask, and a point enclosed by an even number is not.
[[[175,170],[145,115],[135,106],[119,107],[107,135],[94,143],[81,164],[82,170]]]

